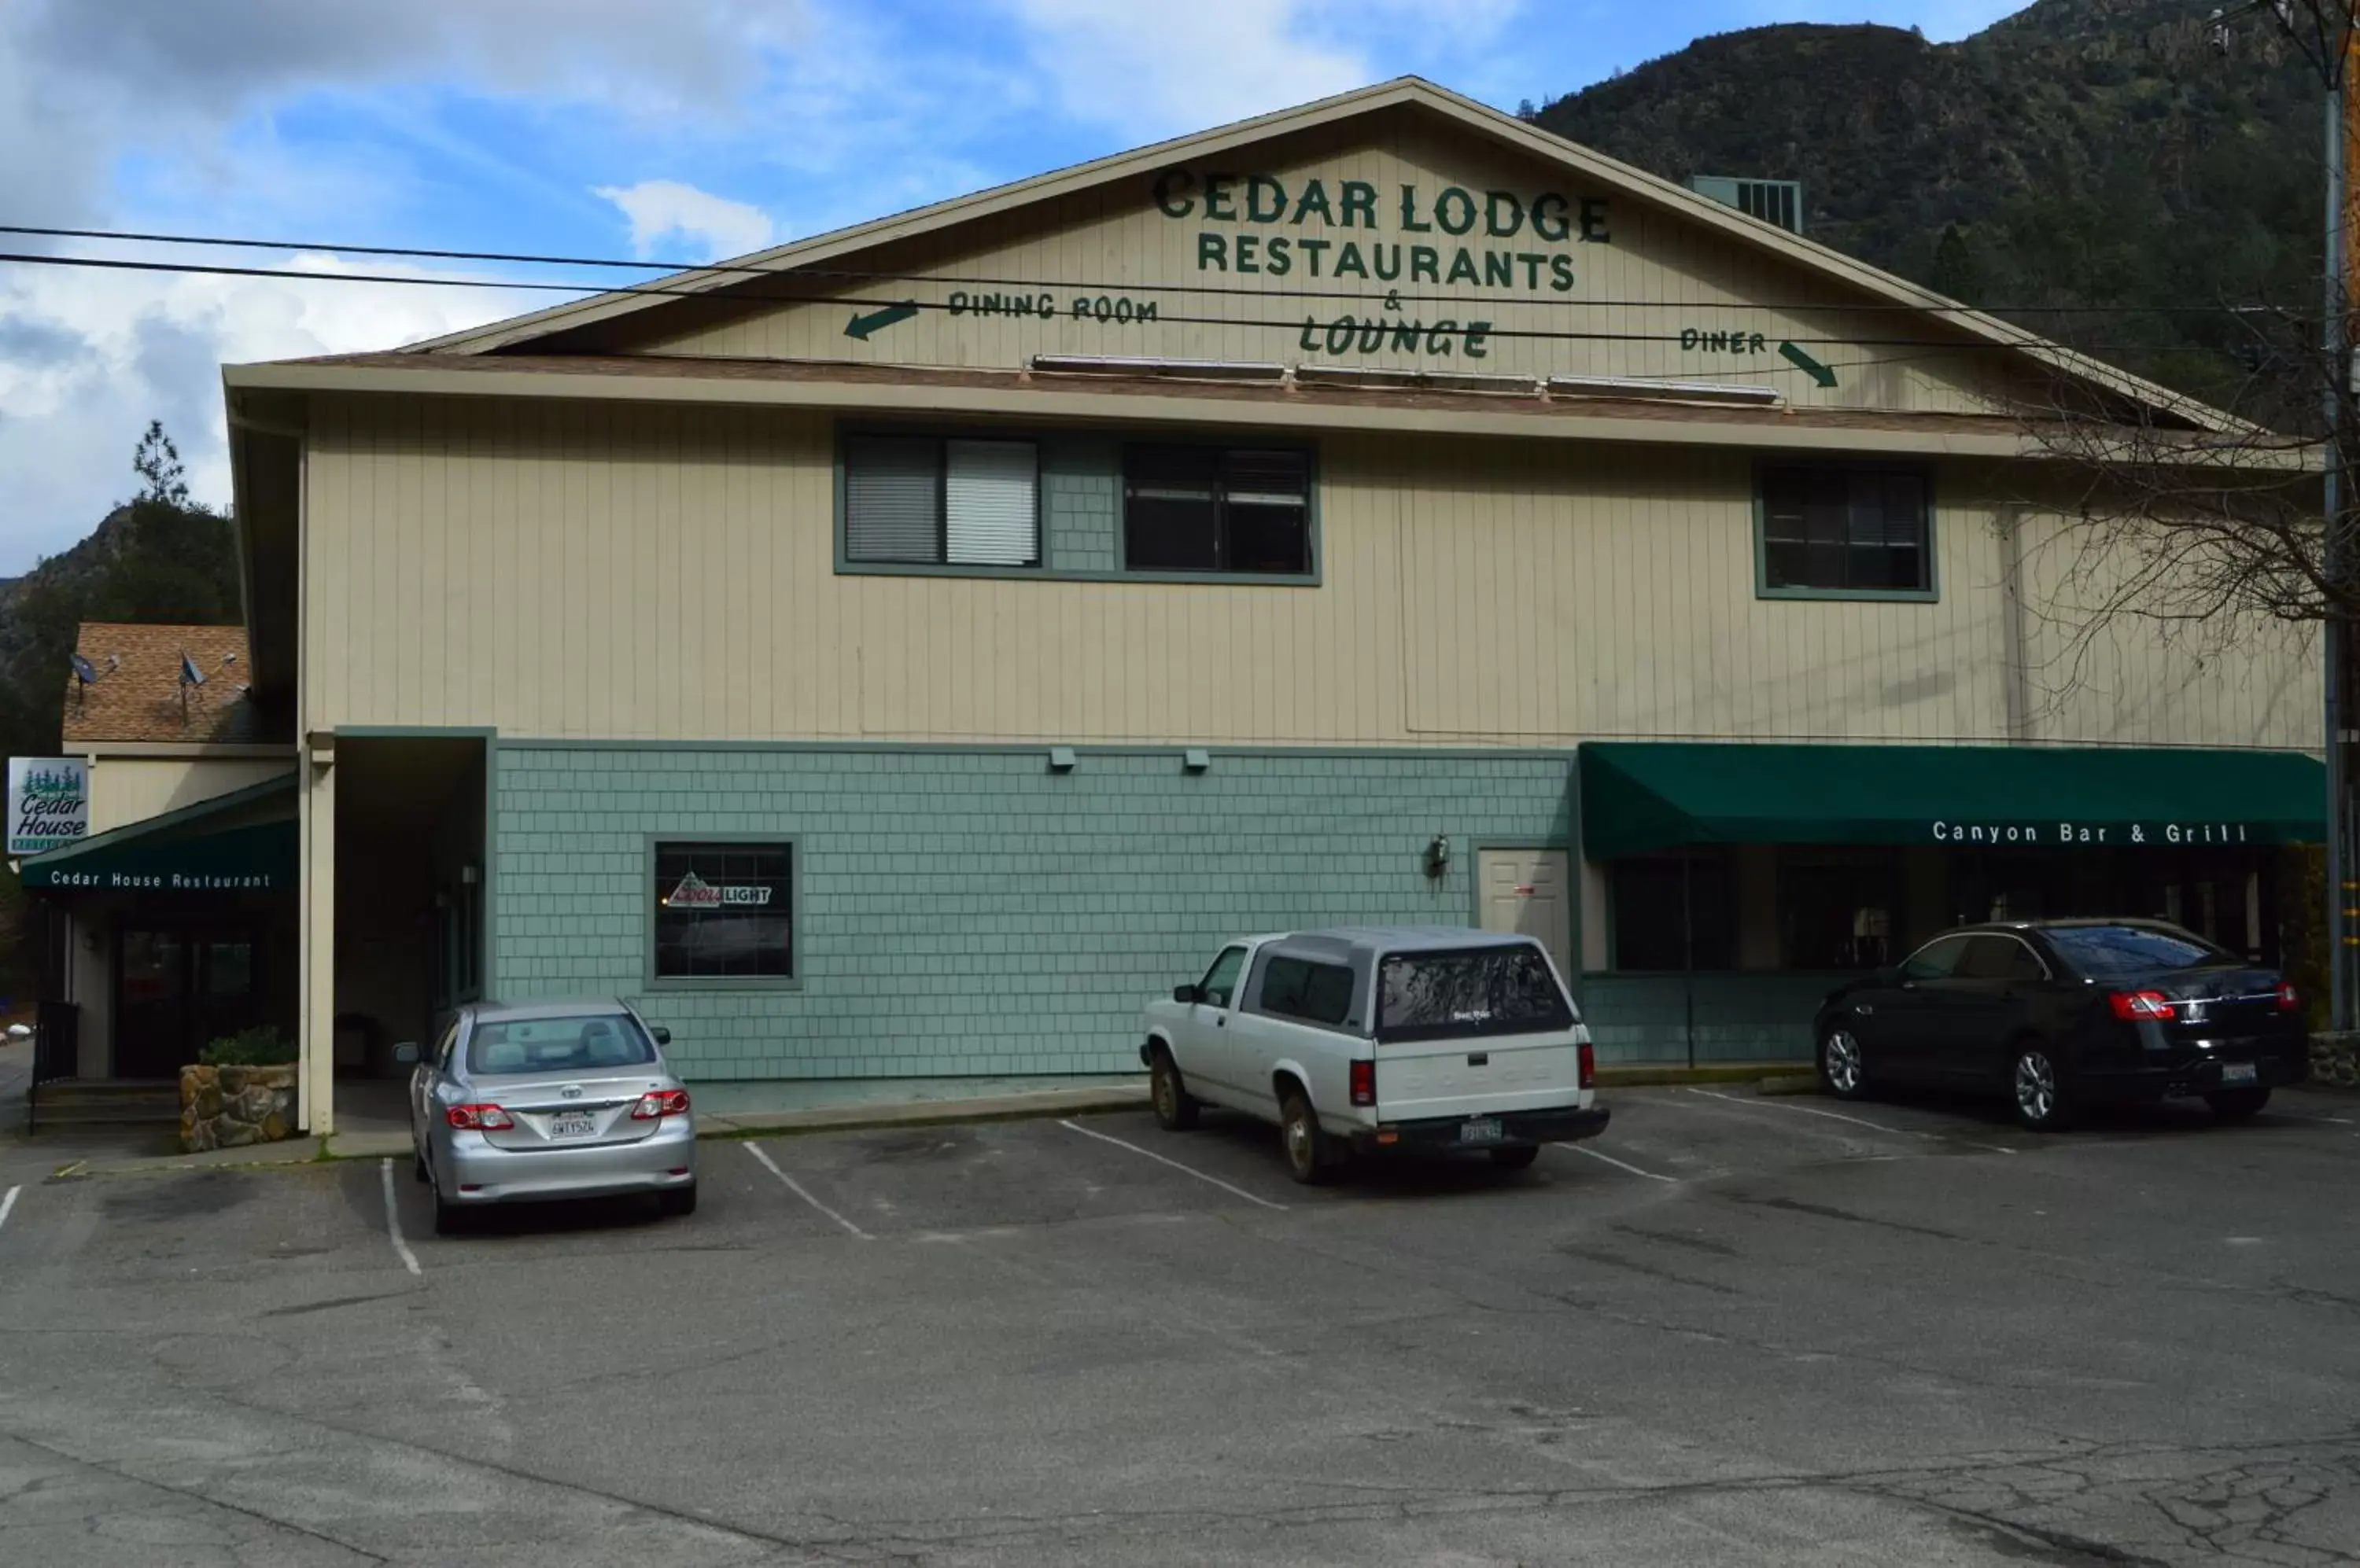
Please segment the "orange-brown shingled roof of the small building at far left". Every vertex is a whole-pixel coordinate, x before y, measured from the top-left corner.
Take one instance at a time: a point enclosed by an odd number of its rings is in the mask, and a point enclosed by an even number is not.
[[[245,627],[156,627],[85,620],[76,653],[97,681],[66,672],[66,747],[106,740],[248,745],[262,738],[245,700]],[[205,684],[179,691],[186,653]]]

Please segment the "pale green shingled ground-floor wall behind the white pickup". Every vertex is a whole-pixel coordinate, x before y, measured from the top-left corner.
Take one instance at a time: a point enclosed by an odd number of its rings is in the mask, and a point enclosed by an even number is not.
[[[493,995],[625,995],[694,1078],[1119,1073],[1225,936],[1468,924],[1569,842],[1569,757],[581,747],[496,759]],[[647,993],[649,835],[793,832],[802,990]],[[1451,835],[1449,872],[1423,872]]]

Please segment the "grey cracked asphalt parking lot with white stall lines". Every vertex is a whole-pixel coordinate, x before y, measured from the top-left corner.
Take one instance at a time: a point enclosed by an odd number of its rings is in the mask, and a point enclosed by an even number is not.
[[[2360,1556],[2360,1101],[1612,1106],[1317,1191],[1227,1118],[706,1144],[694,1219],[458,1238],[19,1144],[0,1561]]]

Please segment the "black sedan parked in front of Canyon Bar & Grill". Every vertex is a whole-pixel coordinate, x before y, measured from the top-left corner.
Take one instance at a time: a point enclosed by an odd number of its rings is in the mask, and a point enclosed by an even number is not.
[[[2202,1096],[2254,1115],[2308,1073],[2303,1007],[2259,969],[2159,920],[1964,927],[1820,1004],[1820,1082],[2004,1092],[2025,1127],[2079,1106]]]

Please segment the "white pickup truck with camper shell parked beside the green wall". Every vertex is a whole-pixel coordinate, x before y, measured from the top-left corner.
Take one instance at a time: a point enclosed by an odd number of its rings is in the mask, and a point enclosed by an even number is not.
[[[1199,1103],[1274,1122],[1296,1181],[1340,1153],[1487,1151],[1595,1137],[1591,1035],[1529,936],[1336,929],[1241,936],[1147,1004],[1156,1120]]]

